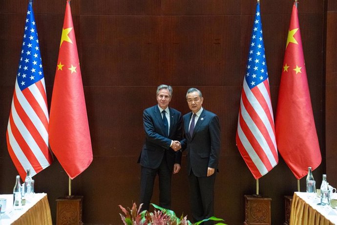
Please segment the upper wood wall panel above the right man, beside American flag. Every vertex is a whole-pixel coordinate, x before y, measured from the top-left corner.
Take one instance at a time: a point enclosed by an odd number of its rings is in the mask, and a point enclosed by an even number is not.
[[[237,86],[238,16],[167,17],[161,74],[183,86]]]

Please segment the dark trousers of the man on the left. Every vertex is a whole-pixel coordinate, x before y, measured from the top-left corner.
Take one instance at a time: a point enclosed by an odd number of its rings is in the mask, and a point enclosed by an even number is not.
[[[141,168],[141,196],[140,203],[143,203],[142,210],[147,210],[153,193],[153,184],[158,174],[159,177],[159,206],[171,208],[171,176],[166,157],[164,156],[157,169],[142,166]]]

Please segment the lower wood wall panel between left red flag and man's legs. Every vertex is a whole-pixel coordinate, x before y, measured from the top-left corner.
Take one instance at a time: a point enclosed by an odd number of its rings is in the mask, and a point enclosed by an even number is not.
[[[139,205],[140,166],[136,163],[137,158],[94,158],[81,180],[85,223],[121,224],[116,216],[121,212],[118,205],[131,207],[133,202]]]

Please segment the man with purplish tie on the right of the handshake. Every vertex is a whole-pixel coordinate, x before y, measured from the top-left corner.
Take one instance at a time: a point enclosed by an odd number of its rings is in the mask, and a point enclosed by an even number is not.
[[[190,182],[190,204],[194,222],[214,216],[214,181],[220,155],[219,118],[202,107],[200,90],[190,88],[186,94],[192,112],[183,116]],[[212,224],[211,221],[204,224]]]

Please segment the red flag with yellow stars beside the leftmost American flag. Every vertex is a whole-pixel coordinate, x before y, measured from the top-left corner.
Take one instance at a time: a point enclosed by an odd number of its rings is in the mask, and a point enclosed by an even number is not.
[[[92,162],[92,148],[70,3],[67,1],[49,116],[49,145],[71,179]]]

